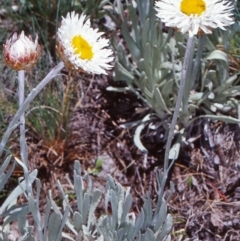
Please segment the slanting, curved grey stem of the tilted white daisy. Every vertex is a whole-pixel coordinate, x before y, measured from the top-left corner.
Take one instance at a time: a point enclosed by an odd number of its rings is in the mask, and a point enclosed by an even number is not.
[[[59,72],[63,69],[64,64],[63,62],[60,62],[58,65],[56,65],[48,74],[47,76],[36,86],[36,88],[32,89],[32,91],[29,93],[27,98],[24,100],[21,107],[18,109],[17,113],[14,115],[12,121],[9,123],[8,128],[6,132],[3,135],[3,138],[0,143],[0,156],[3,153],[4,147],[8,141],[8,138],[10,137],[13,130],[17,127],[20,117],[22,114],[27,110],[29,107],[29,104],[33,101],[33,99],[40,93],[40,91],[54,78],[56,77]]]

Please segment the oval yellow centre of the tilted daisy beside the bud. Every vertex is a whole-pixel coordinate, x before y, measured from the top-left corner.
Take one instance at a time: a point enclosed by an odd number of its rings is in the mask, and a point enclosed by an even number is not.
[[[82,59],[92,59],[92,46],[80,35],[73,37],[72,46],[74,48],[74,53],[78,54]]]

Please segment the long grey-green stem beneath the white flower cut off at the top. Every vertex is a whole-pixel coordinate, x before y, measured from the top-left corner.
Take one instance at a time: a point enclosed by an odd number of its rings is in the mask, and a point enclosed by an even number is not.
[[[191,57],[193,48],[194,48],[194,37],[191,37],[191,38],[189,37],[187,41],[185,56],[184,56],[183,69],[181,73],[181,81],[179,85],[177,102],[174,109],[172,122],[169,127],[169,134],[168,134],[168,139],[166,144],[166,150],[165,150],[165,156],[164,156],[164,177],[163,177],[164,180],[163,180],[162,191],[164,189],[164,186],[168,177],[168,172],[171,167],[171,165],[169,166],[169,153],[172,145],[172,139],[174,137],[174,129],[177,123],[177,119],[178,119],[178,115],[179,115],[179,111],[182,103],[187,74],[189,73],[189,68],[192,66],[192,62],[193,62],[193,59]]]

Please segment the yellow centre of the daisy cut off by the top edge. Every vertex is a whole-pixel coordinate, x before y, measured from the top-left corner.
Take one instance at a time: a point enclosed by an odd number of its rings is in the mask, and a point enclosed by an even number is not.
[[[204,0],[182,0],[181,11],[186,15],[200,16],[206,10],[206,3]]]

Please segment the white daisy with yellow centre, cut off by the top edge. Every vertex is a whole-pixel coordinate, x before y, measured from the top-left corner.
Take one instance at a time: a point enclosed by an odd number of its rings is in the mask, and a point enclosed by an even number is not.
[[[234,23],[230,0],[160,0],[156,1],[157,17],[168,27],[175,27],[189,36],[212,33]]]

